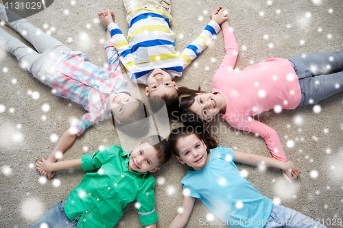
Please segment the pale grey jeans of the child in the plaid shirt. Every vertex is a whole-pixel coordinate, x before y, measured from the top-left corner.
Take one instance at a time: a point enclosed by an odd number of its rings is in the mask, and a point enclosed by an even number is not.
[[[15,14],[7,10],[7,14]],[[56,62],[71,51],[62,42],[45,34],[25,19],[9,23],[5,8],[0,4],[0,18],[29,41],[38,53],[0,27],[0,47],[12,53],[36,79],[51,86],[49,79],[55,73]],[[14,18],[14,16],[12,16]]]

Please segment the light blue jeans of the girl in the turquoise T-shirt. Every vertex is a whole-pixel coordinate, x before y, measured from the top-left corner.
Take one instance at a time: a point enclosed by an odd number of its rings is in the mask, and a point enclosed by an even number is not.
[[[316,220],[281,205],[273,205],[272,213],[264,228],[325,228]]]

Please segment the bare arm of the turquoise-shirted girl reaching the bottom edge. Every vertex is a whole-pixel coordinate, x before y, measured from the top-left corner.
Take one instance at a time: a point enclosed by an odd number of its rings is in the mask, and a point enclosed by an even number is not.
[[[194,197],[185,196],[182,203],[182,212],[180,212],[174,220],[170,223],[169,228],[185,227],[188,222],[189,216],[193,210]]]

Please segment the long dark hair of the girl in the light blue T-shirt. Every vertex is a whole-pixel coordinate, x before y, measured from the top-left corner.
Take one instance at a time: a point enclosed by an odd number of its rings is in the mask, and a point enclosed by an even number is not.
[[[176,144],[178,140],[180,140],[180,138],[184,136],[189,136],[191,134],[196,134],[196,136],[200,140],[204,141],[204,144],[206,144],[206,147],[207,147],[207,153],[209,153],[210,149],[218,147],[217,140],[215,140],[215,138],[217,137],[212,136],[211,133],[207,129],[204,129],[203,127],[200,127],[200,126],[178,127],[171,131],[168,138],[169,148],[174,153],[174,155],[180,156],[179,151],[176,149]]]

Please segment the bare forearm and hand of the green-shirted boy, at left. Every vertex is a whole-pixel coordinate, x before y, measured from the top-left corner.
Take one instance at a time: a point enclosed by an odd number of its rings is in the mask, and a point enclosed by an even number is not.
[[[49,160],[45,160],[44,157],[42,157],[42,161],[38,160],[36,162],[36,168],[40,168],[41,170],[45,170],[45,172],[47,172],[47,177],[50,180],[52,177],[51,173],[53,173],[57,170],[82,168],[81,158],[62,161],[62,162],[51,162]]]

